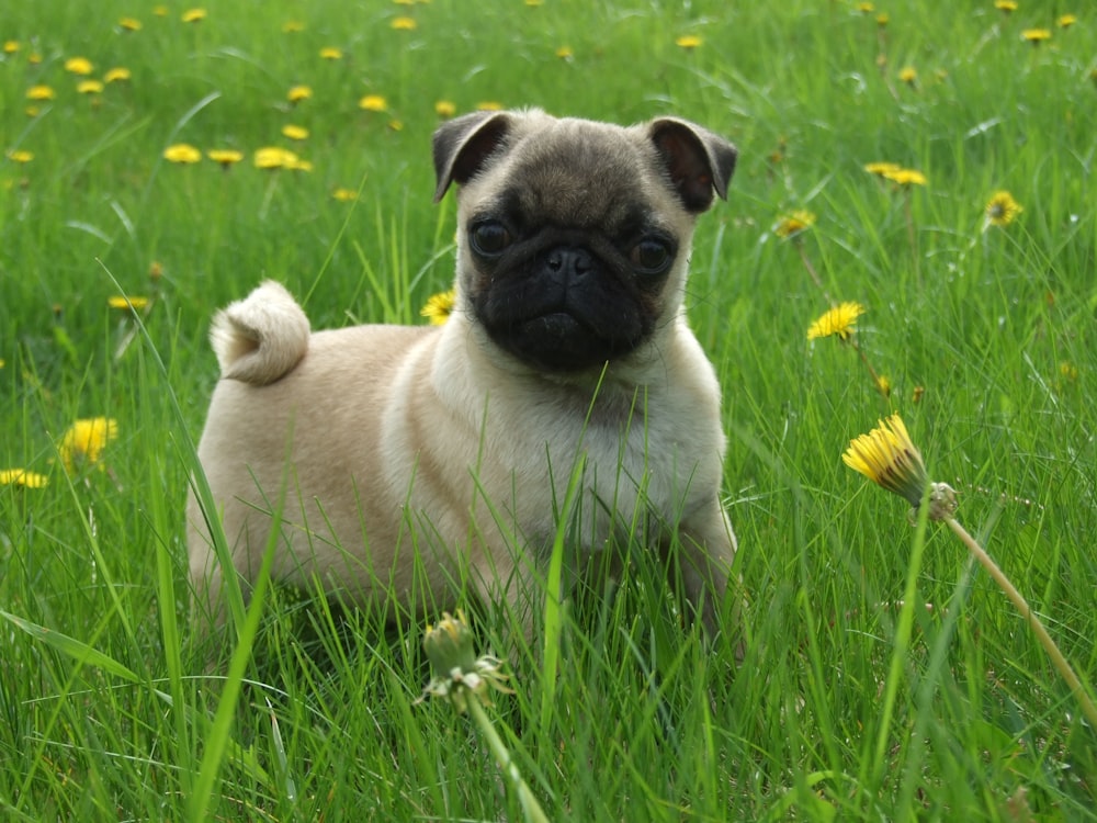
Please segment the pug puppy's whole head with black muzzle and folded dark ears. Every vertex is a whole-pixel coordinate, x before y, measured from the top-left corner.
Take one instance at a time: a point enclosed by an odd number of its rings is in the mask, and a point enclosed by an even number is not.
[[[725,195],[735,149],[674,119],[482,112],[438,129],[434,166],[439,199],[462,185],[459,309],[522,363],[576,372],[679,311],[693,219]]]

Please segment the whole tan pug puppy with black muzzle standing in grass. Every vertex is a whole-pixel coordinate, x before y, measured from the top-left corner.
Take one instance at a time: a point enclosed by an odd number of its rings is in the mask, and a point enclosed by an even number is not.
[[[225,575],[247,596],[267,552],[275,580],[392,617],[470,590],[528,617],[564,529],[576,567],[641,534],[717,630],[725,438],[682,298],[735,148],[676,117],[530,110],[448,122],[433,158],[434,200],[460,187],[443,326],[312,332],[273,282],[214,319],[199,458],[216,510],[192,493],[188,516],[200,622],[225,620]]]

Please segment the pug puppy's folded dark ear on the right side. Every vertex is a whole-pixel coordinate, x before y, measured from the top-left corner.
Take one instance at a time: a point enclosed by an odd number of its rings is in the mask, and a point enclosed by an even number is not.
[[[735,171],[735,146],[720,135],[677,117],[648,124],[652,143],[686,208],[694,214],[712,205],[712,193],[727,200],[727,183]]]

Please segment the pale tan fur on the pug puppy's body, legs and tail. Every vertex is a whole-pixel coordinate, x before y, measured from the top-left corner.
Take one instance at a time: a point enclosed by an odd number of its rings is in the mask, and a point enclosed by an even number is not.
[[[490,196],[497,169],[465,187],[462,214]],[[660,207],[688,251],[691,221]],[[677,526],[687,595],[716,628],[735,539],[719,499],[720,390],[680,306],[686,257],[652,340],[604,379],[546,375],[500,352],[470,309],[464,248],[457,307],[441,328],[310,334],[273,282],[231,304],[212,332],[222,380],[199,458],[245,590],[276,512],[281,582],[389,613],[453,608],[462,584],[513,600],[543,574],[554,504],[583,455],[583,545],[596,551],[648,514]],[[220,622],[223,571],[193,495],[188,520],[197,615]]]

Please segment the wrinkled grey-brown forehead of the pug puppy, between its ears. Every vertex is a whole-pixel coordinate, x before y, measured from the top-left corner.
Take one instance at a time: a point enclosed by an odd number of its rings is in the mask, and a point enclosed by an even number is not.
[[[654,153],[625,137],[624,129],[592,124],[555,124],[554,139],[517,142],[507,158],[499,205],[512,218],[568,228],[612,232],[651,219]]]

